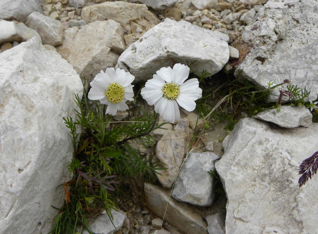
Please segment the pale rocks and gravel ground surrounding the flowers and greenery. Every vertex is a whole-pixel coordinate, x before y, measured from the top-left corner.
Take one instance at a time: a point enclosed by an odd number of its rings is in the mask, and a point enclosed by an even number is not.
[[[194,74],[226,70],[263,88],[289,79],[313,102],[317,8],[315,0],[1,1],[0,233],[52,228],[51,206],[65,196],[55,189],[71,179],[72,139],[61,119],[76,117],[79,74],[87,85],[119,67],[145,82],[161,67],[191,63]],[[121,111],[114,119],[133,116]],[[153,131],[152,148],[134,145],[168,169],[155,184],[123,184],[117,228],[102,213],[90,220],[95,233],[316,233],[318,182],[297,184],[301,161],[317,151],[307,108],[242,118],[228,136],[225,123],[210,126],[187,154],[194,129],[205,127],[198,117],[182,110],[178,123]],[[225,193],[207,173],[214,169]]]

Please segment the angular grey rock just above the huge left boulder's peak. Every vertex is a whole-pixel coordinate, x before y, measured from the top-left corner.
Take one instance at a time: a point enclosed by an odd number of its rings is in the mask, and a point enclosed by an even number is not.
[[[33,11],[29,15],[26,25],[38,32],[43,44],[52,46],[62,44],[64,28],[59,20],[47,17],[38,11]]]

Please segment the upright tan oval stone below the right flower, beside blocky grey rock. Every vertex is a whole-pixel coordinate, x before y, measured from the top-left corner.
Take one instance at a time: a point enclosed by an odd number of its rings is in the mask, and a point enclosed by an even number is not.
[[[185,123],[189,127],[189,121]],[[159,171],[161,175],[156,174],[164,188],[171,188],[176,179],[188,146],[186,141],[187,134],[188,132],[179,131],[178,129],[167,131],[156,145],[156,158],[160,161],[162,167],[167,168]]]

